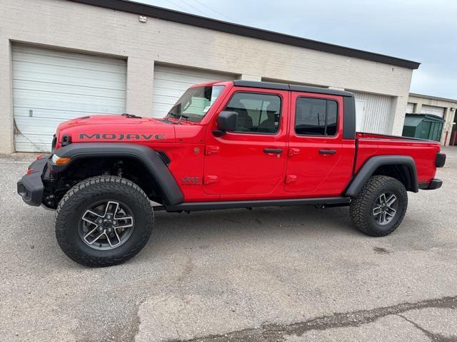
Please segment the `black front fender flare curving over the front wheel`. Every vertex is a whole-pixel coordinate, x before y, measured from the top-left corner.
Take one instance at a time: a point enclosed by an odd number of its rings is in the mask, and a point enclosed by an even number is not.
[[[71,157],[71,162],[69,165],[55,165],[49,160],[48,165],[53,172],[64,171],[67,167],[71,167],[74,161],[87,157],[130,157],[146,167],[149,175],[157,182],[166,204],[176,205],[184,202],[184,195],[171,175],[171,171],[150,147],[121,142],[81,142],[59,148],[56,150],[56,155]]]

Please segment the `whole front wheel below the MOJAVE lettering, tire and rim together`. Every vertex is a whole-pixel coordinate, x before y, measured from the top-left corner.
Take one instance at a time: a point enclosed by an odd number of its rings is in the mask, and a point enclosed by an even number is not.
[[[121,177],[92,177],[61,199],[56,238],[62,251],[85,266],[111,266],[134,257],[154,225],[154,211],[141,188]]]

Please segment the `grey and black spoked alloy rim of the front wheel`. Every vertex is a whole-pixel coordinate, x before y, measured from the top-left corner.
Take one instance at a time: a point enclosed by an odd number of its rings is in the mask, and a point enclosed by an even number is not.
[[[89,247],[115,249],[124,244],[134,230],[134,215],[126,204],[104,200],[92,204],[79,220],[79,237]]]

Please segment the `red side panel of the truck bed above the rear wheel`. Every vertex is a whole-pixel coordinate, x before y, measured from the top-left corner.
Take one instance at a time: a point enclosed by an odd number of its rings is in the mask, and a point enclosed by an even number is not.
[[[436,153],[441,149],[438,142],[366,133],[357,133],[357,139],[355,173],[375,155],[408,155],[416,162],[418,182],[430,182],[435,177]]]

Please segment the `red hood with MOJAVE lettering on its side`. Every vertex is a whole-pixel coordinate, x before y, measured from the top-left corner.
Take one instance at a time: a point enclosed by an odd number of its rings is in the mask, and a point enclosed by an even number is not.
[[[71,142],[174,142],[176,137],[171,123],[125,115],[90,115],[61,123],[57,148],[64,135]]]

